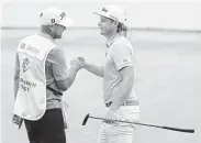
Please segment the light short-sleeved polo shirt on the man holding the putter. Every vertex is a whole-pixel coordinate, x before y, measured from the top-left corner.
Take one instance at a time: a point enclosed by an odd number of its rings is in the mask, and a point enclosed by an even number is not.
[[[126,66],[134,66],[133,46],[125,36],[118,34],[107,43],[107,46],[103,78],[103,98],[105,103],[112,101],[115,97],[116,85],[121,81],[119,70]],[[135,85],[126,100],[137,100]]]

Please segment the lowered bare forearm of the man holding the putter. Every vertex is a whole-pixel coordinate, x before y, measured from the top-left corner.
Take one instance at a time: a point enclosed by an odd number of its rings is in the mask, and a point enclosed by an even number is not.
[[[118,110],[121,105],[127,99],[130,92],[132,91],[134,80],[132,78],[127,78],[126,80],[122,80],[116,87],[115,97],[110,107],[111,110]]]

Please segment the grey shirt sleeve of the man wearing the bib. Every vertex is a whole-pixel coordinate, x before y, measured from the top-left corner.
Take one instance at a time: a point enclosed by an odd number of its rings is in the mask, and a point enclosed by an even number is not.
[[[68,77],[68,68],[66,66],[65,53],[62,48],[56,48],[51,52],[52,70],[56,80],[64,80]]]

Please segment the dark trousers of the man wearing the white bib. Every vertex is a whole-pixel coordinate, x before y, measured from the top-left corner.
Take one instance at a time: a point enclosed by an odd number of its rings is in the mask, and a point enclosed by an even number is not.
[[[24,123],[30,143],[66,143],[60,109],[48,109],[40,120]]]

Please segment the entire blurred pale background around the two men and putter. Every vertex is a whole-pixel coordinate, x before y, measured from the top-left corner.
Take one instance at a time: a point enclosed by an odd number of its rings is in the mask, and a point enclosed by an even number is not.
[[[141,101],[141,122],[196,129],[194,134],[136,127],[134,143],[201,142],[201,3],[146,0],[7,0],[1,3],[1,143],[29,143],[24,125],[11,122],[13,70],[18,43],[38,31],[38,14],[48,7],[66,11],[75,23],[57,41],[67,65],[77,56],[103,64],[105,38],[92,14],[104,4],[118,4],[127,14],[127,37],[136,56],[135,82]],[[96,143],[102,117],[102,79],[81,69],[65,99],[69,103],[68,143]]]

